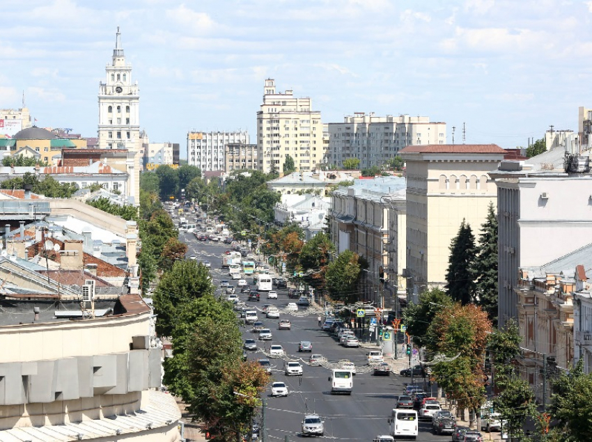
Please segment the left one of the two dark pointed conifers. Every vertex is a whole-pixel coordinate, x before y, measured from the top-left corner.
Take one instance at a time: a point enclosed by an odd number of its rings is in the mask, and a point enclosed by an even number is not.
[[[451,241],[449,265],[446,271],[446,292],[462,305],[475,299],[475,282],[470,271],[475,256],[475,237],[471,226],[463,219],[458,235]]]

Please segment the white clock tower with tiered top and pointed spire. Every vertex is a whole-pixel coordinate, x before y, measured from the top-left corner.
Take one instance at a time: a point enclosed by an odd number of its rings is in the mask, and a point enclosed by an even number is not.
[[[132,83],[132,65],[125,63],[121,34],[117,28],[113,60],[105,68],[106,81],[99,83],[99,148],[126,149],[130,155],[127,171],[134,185],[130,196],[139,205],[140,196],[140,95]]]

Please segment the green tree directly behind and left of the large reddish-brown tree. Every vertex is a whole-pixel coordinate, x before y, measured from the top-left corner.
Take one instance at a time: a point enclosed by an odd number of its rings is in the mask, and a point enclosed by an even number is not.
[[[413,336],[418,347],[426,347],[426,334],[434,317],[443,309],[452,306],[452,299],[444,290],[433,287],[419,294],[419,303],[410,303],[403,310],[403,324],[407,333]]]

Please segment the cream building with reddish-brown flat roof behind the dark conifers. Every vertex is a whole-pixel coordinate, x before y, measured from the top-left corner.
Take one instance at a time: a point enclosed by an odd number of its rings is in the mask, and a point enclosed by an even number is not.
[[[497,189],[488,173],[506,151],[495,144],[411,145],[400,150],[407,175],[407,288],[416,296],[446,284],[450,244],[464,219],[475,233]]]

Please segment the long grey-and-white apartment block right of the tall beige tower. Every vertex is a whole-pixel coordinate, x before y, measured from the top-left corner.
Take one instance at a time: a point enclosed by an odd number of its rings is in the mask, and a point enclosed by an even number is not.
[[[359,159],[360,168],[382,166],[407,145],[446,143],[446,123],[430,122],[429,117],[357,112],[327,129],[327,162],[336,166],[348,158]]]

